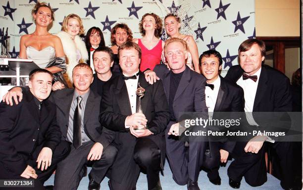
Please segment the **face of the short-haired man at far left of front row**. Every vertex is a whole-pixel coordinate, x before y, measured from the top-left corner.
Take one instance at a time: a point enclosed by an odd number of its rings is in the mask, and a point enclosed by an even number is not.
[[[42,101],[49,97],[51,92],[52,77],[48,73],[36,73],[29,81],[30,92]]]

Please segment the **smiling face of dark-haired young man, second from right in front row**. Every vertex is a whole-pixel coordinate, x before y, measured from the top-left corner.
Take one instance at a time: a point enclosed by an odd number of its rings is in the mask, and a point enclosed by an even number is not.
[[[214,82],[218,78],[221,67],[222,65],[219,66],[219,58],[214,55],[202,57],[201,59],[202,74],[207,79],[208,84]]]

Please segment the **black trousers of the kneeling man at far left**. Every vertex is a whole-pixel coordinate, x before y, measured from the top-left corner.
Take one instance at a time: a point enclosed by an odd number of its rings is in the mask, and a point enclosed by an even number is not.
[[[40,151],[42,150],[43,146],[37,146],[34,150],[34,152],[32,153],[31,156],[27,157],[27,163],[28,165],[30,165],[31,167],[33,167],[36,170],[36,174],[38,175],[38,178],[35,180],[34,184],[35,184],[35,188],[33,188],[33,190],[43,190],[43,184],[44,182],[46,182],[51,174],[53,173],[53,171],[56,169],[57,164],[63,160],[69,153],[70,151],[70,145],[68,142],[65,141],[61,141],[56,148],[54,149],[53,153],[52,153],[52,158],[51,158],[51,165],[50,167],[48,167],[47,170],[41,171],[41,168],[38,169],[38,165],[37,165],[37,158],[38,155],[40,153]],[[23,155],[24,158],[26,158],[25,155]],[[21,174],[15,174],[12,173],[10,171],[7,171],[2,163],[0,162],[0,179],[25,179],[23,177],[20,176]],[[9,188],[8,188],[9,189]],[[11,189],[11,188],[10,188]],[[22,188],[20,188],[22,189]],[[28,189],[28,188],[26,188]],[[30,189],[29,189],[30,190]]]

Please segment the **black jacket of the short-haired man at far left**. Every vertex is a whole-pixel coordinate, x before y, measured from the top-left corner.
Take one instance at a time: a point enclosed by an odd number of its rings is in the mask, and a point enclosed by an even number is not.
[[[44,100],[39,109],[30,91],[13,106],[0,103],[0,162],[6,170],[21,175],[37,146],[52,152],[60,142],[61,132],[56,123],[56,108]]]

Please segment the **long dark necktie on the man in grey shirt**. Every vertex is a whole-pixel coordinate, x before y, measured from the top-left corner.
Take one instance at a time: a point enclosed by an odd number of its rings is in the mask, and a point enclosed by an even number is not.
[[[74,112],[74,129],[73,129],[73,146],[77,149],[82,145],[81,141],[81,117],[82,117],[82,108],[81,108],[82,96],[78,95],[77,97],[77,107]]]

